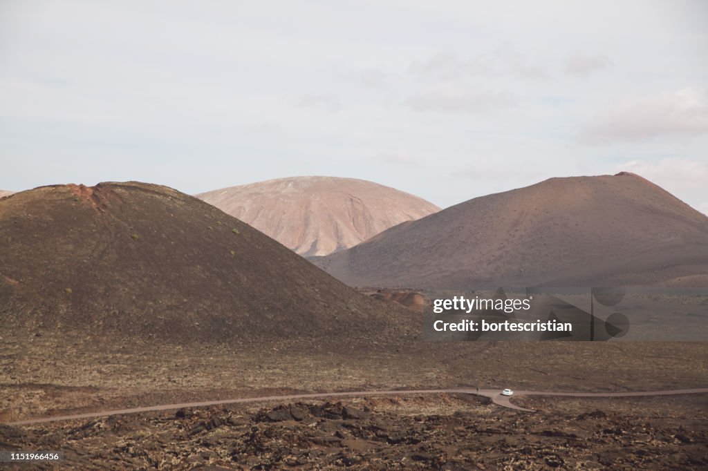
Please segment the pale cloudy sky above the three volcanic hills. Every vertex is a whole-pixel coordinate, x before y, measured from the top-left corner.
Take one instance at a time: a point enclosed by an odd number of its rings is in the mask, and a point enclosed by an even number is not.
[[[708,2],[0,0],[0,189],[632,171],[708,214]]]

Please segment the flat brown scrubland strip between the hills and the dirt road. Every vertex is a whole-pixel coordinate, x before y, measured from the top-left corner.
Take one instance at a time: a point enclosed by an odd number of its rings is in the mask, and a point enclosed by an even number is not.
[[[71,335],[2,342],[3,421],[289,392],[663,390],[704,387],[708,377],[702,342],[177,345]]]

